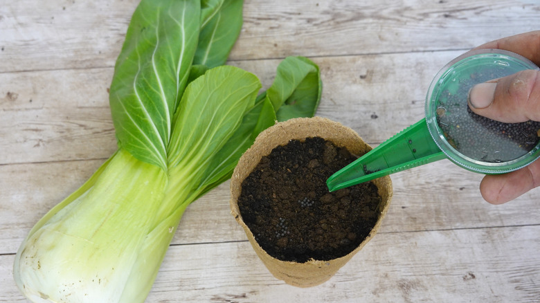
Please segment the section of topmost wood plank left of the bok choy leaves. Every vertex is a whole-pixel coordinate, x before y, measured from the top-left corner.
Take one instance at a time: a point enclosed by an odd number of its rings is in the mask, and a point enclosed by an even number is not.
[[[114,66],[138,2],[3,3],[0,72]]]

